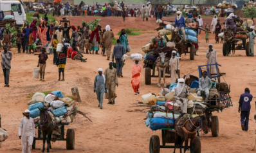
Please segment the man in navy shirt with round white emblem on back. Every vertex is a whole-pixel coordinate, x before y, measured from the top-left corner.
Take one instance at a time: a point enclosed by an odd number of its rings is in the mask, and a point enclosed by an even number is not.
[[[242,131],[248,131],[249,116],[251,110],[250,102],[252,98],[253,96],[250,94],[250,90],[248,88],[246,88],[244,93],[240,96],[238,112],[241,112]]]

